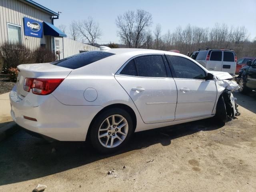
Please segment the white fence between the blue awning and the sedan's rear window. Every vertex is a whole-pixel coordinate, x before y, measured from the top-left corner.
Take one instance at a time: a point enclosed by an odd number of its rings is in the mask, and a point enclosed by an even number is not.
[[[81,43],[66,37],[64,37],[63,39],[55,38],[55,40],[60,41],[60,49],[56,48],[56,50],[60,51],[60,59],[78,54],[79,51],[100,50],[100,48],[98,47]]]

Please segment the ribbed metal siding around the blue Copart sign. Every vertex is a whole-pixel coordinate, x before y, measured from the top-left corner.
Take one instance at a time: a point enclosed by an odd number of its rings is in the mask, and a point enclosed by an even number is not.
[[[36,38],[24,36],[23,18],[28,17],[40,22],[51,23],[51,15],[38,10],[19,0],[0,0],[0,44],[8,41],[7,23],[22,27],[22,43],[30,49],[35,49],[40,44],[46,44],[45,36]]]

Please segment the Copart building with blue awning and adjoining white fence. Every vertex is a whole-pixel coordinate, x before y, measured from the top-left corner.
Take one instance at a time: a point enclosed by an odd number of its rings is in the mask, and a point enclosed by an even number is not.
[[[58,18],[58,13],[32,0],[0,0],[0,44],[18,42],[32,50],[45,47],[57,52],[59,58],[98,50],[66,38],[66,34],[54,26]]]

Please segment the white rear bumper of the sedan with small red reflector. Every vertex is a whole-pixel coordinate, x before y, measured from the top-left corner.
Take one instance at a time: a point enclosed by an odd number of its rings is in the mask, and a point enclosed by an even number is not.
[[[84,141],[90,122],[102,106],[68,106],[60,103],[52,94],[34,106],[34,95],[29,93],[23,100],[16,89],[10,92],[11,115],[21,127],[60,141]],[[25,119],[24,116],[37,121]]]

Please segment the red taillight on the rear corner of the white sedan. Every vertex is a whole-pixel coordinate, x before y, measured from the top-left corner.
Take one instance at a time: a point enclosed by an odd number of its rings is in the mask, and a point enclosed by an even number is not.
[[[25,83],[32,80],[32,83],[30,84],[30,87],[25,89]],[[38,95],[48,95],[52,93],[63,81],[64,79],[33,79],[33,78],[26,78],[24,82],[24,90],[30,91],[32,89],[32,93],[38,94]]]

